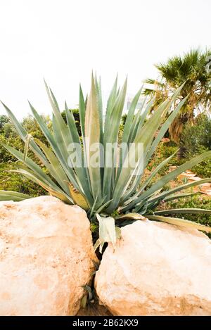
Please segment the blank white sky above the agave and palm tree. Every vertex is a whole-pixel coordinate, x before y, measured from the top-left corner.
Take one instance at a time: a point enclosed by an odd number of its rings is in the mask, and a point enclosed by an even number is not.
[[[30,113],[27,99],[50,113],[45,77],[73,107],[92,69],[104,95],[117,72],[134,94],[157,77],[154,63],[210,46],[210,13],[210,0],[0,0],[0,99],[18,118]]]

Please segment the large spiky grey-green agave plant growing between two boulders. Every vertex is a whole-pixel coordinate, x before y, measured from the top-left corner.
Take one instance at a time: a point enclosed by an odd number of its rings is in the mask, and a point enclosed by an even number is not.
[[[144,170],[153,156],[155,148],[186,102],[188,96],[179,103],[177,108],[174,108],[170,115],[167,115],[170,113],[170,108],[174,106],[174,101],[177,99],[183,86],[179,87],[170,98],[160,103],[155,112],[152,112],[154,102],[152,99],[146,106],[143,104],[142,108],[136,113],[136,106],[142,90],[139,89],[129,108],[122,134],[122,144],[127,146],[127,148],[120,148],[118,134],[127,91],[127,80],[121,89],[117,86],[117,79],[115,80],[108,98],[106,118],[104,120],[101,80],[94,78],[92,75],[91,91],[86,100],[84,100],[82,89],[79,87],[81,139],[67,103],[65,103],[66,124],[60,113],[56,98],[46,84],[46,91],[53,108],[52,129],[46,127],[44,120],[31,103],[30,108],[46,139],[49,141],[49,147],[27,134],[6,105],[4,105],[4,108],[8,116],[25,142],[25,152],[21,153],[6,144],[4,144],[4,147],[23,163],[23,165],[17,165],[15,172],[23,174],[25,177],[40,184],[52,196],[60,198],[65,203],[77,204],[84,208],[91,223],[99,223],[99,239],[96,241],[96,247],[100,246],[100,249],[102,249],[103,243],[106,241],[110,241],[115,245],[117,237],[120,236],[119,227],[134,220],[143,220],[143,215],[150,220],[211,231],[211,227],[188,222],[184,219],[163,216],[164,214],[172,215],[178,212],[207,212],[211,214],[210,210],[155,211],[155,208],[163,201],[186,196],[186,194],[178,194],[177,192],[211,182],[211,179],[207,178],[198,182],[182,184],[169,191],[162,189],[165,184],[175,179],[181,172],[210,158],[211,151],[207,151],[184,163],[151,185],[155,174],[170,162],[174,156],[172,155],[160,163],[143,180]],[[141,154],[139,153],[140,144],[142,146]],[[79,146],[74,153],[70,152],[70,146],[72,145]],[[97,147],[94,149],[93,146],[96,145],[102,146],[102,148]],[[110,149],[110,145],[112,145],[112,149]],[[28,148],[34,152],[47,172],[44,172],[42,167],[27,156]],[[81,160],[80,165],[76,165],[75,158]],[[98,160],[97,165],[92,165],[91,160],[93,158]],[[130,165],[129,159],[136,159],[135,167]],[[107,166],[108,163],[110,164],[109,166]],[[0,198],[3,200],[21,201],[24,198],[30,198],[30,196],[1,191]],[[115,227],[115,224],[118,224],[119,227]]]

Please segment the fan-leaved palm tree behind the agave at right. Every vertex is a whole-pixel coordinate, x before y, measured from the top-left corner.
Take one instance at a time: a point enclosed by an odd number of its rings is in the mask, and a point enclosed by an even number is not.
[[[153,84],[153,89],[145,89],[143,94],[155,96],[154,108],[167,96],[184,84],[176,103],[189,94],[177,118],[170,126],[170,137],[179,142],[181,132],[186,122],[194,122],[198,113],[210,110],[211,105],[211,70],[208,61],[211,51],[193,49],[183,56],[174,56],[167,63],[155,65],[159,72],[158,80],[148,79],[145,82]],[[176,105],[176,104],[175,104]]]

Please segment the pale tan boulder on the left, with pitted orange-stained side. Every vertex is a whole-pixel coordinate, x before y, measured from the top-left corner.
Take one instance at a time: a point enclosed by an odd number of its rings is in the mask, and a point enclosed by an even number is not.
[[[0,203],[0,315],[75,315],[96,260],[78,206],[41,196]]]

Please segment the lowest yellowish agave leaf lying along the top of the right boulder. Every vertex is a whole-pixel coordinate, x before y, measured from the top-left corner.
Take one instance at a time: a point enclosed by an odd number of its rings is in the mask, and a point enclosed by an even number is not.
[[[180,219],[178,217],[162,217],[160,215],[146,215],[146,217],[148,217],[149,220],[158,220],[162,222],[167,222],[168,224],[176,224],[177,226],[181,226],[181,227],[211,232],[211,227],[207,227],[204,226],[203,224],[198,224],[193,221]]]

